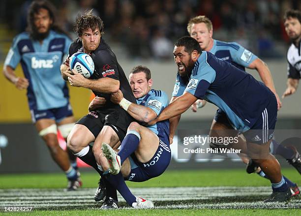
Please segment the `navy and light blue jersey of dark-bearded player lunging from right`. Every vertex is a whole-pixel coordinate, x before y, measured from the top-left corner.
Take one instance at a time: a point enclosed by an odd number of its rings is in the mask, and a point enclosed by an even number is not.
[[[215,104],[241,132],[254,125],[273,96],[250,74],[205,51],[195,62],[189,79],[177,74],[173,96],[181,96],[184,91]]]

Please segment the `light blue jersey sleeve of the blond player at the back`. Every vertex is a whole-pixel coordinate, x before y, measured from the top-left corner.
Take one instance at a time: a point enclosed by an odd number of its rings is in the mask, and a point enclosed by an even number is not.
[[[248,67],[255,59],[258,59],[252,52],[248,51],[240,44],[233,42],[238,49],[229,48],[233,62],[236,62],[244,67]]]

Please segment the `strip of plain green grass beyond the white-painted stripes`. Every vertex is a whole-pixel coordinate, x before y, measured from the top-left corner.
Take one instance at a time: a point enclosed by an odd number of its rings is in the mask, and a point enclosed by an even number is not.
[[[283,175],[301,185],[300,174],[293,168],[282,169]],[[96,187],[96,172],[82,173],[83,187]],[[62,173],[52,174],[1,174],[0,188],[63,188],[67,184]],[[223,170],[170,170],[143,183],[127,182],[129,187],[178,186],[269,186],[270,181],[243,169]]]

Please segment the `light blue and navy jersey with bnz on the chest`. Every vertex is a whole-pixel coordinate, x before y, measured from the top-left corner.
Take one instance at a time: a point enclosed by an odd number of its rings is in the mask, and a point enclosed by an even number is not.
[[[27,89],[30,109],[46,110],[68,103],[69,92],[61,78],[60,65],[71,42],[69,37],[56,31],[50,31],[42,44],[30,39],[27,32],[14,38],[4,65],[15,69],[21,62],[30,83]]]

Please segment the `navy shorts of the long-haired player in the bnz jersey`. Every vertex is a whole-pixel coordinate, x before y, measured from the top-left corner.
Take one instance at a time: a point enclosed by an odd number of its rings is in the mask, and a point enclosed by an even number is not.
[[[30,110],[30,114],[33,123],[36,123],[40,119],[53,119],[57,123],[59,123],[64,118],[73,116],[72,107],[69,104],[69,102],[67,103],[66,106],[59,107],[59,108],[53,108],[48,110],[32,109]]]

